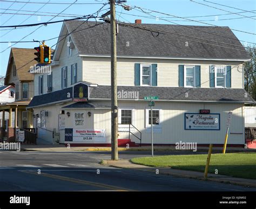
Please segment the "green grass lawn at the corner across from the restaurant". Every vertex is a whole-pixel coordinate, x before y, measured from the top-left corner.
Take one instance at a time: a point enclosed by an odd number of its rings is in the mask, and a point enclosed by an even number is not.
[[[166,155],[139,157],[131,161],[152,167],[171,167],[173,169],[204,172],[207,155]],[[209,173],[240,178],[256,179],[256,153],[212,154]]]

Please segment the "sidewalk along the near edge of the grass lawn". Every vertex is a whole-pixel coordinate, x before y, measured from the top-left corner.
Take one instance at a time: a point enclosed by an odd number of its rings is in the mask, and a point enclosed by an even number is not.
[[[219,183],[228,183],[228,184],[256,187],[255,179],[234,178],[231,176],[215,175],[211,173],[208,173],[208,178],[205,179],[204,173],[202,172],[178,170],[178,169],[171,169],[171,168],[153,168],[145,165],[138,165],[138,164],[131,163],[127,159],[123,159],[119,161],[104,161],[103,164],[116,167],[116,168],[135,169],[135,170],[149,171],[154,173],[156,173],[156,169],[158,169],[159,174],[162,174],[162,175],[170,175],[170,176],[183,177],[183,178],[194,178],[194,179],[200,179],[200,180],[211,180],[213,182],[219,182]]]

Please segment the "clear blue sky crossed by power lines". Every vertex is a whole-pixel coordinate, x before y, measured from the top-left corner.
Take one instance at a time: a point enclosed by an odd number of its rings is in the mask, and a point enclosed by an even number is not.
[[[9,0],[6,0],[9,1]],[[17,0],[17,2],[28,2],[29,0]],[[46,3],[49,0],[30,0],[30,2],[42,2]],[[50,3],[72,3],[75,0],[50,0]],[[230,12],[241,12],[241,10],[227,8],[224,6],[211,4],[209,2],[204,2],[201,0],[194,0],[203,4],[207,4],[210,6],[214,6],[215,8],[227,10]],[[194,2],[191,2],[190,0],[127,0],[128,5],[136,5],[140,6],[142,8],[156,10],[164,13],[168,13],[174,16],[179,17],[191,17],[189,19],[193,20],[211,20],[211,21],[205,21],[204,23],[218,25],[218,26],[229,26],[232,29],[240,30],[240,31],[246,31],[250,33],[256,33],[256,1],[255,0],[208,0],[213,3],[219,3],[224,4],[228,6],[232,6],[234,8],[239,8],[246,11],[252,11],[252,12],[244,12],[240,13],[240,15],[244,16],[255,16],[252,18],[241,18],[242,16],[238,15],[223,15],[227,14],[229,12],[226,11],[220,11],[214,8],[209,8],[205,5],[200,5]],[[52,16],[42,16],[47,15],[46,13],[39,13],[39,12],[55,12],[59,13],[65,8],[68,7],[66,4],[47,4],[45,5],[41,10],[39,10],[36,14],[36,16],[30,16],[30,15],[10,15],[6,13],[26,13],[26,14],[33,14],[34,12],[25,12],[25,11],[12,11],[12,10],[26,10],[26,11],[37,11],[39,8],[41,8],[44,4],[34,4],[34,3],[14,3],[10,8],[9,6],[12,4],[12,2],[0,2],[0,12],[5,12],[5,14],[0,13],[0,25],[18,25],[21,24],[32,24],[32,23],[38,23],[38,22],[48,22]],[[76,3],[105,3],[107,0],[78,0]],[[83,16],[83,15],[89,15],[91,13],[96,12],[102,5],[100,4],[86,4],[86,5],[72,5],[69,9],[65,10],[63,13],[68,13],[76,16]],[[12,10],[3,10],[3,9],[12,9]],[[109,8],[109,5],[106,5],[104,9]],[[254,10],[254,11],[253,11]],[[102,15],[105,11],[100,12],[99,14]],[[121,13],[119,13],[121,12]],[[128,13],[130,15],[126,15],[125,13]],[[38,15],[41,14],[41,15]],[[53,14],[48,14],[53,15]],[[147,16],[146,17],[136,17],[131,15],[141,15],[141,16]],[[181,25],[206,25],[201,24],[197,22],[192,21],[174,21],[174,20],[183,20],[179,18],[170,18],[170,16],[161,15],[159,13],[150,13],[150,15],[158,16],[160,18],[167,19],[169,21],[172,21],[177,24]],[[172,24],[170,22],[166,22],[165,20],[161,20],[157,18],[152,18],[146,13],[139,12],[136,10],[130,10],[125,11],[120,6],[117,6],[117,19],[119,19],[122,22],[134,22],[135,19],[142,19],[143,23],[157,23],[157,24]],[[192,17],[192,16],[206,16],[206,15],[214,15],[212,17]],[[169,18],[166,18],[169,17]],[[27,19],[28,18],[28,19]],[[69,19],[71,17],[56,17],[53,20],[62,20],[62,19]],[[230,20],[221,20],[221,19],[227,19],[227,18],[241,18],[241,19],[230,19]],[[27,19],[27,20],[26,20]],[[53,21],[52,20],[52,21]],[[214,20],[214,21],[212,21]],[[60,29],[61,29],[62,23],[57,24],[50,24],[47,26],[40,27],[36,32],[30,34],[28,37],[24,38],[23,41],[32,41],[35,40],[47,40],[50,38],[57,37],[59,35]],[[24,29],[14,29],[14,30],[6,30],[9,28],[1,28],[0,29],[0,41],[18,41],[22,39],[23,37],[27,36],[29,33],[31,33],[33,30],[37,29],[38,26],[33,27],[26,27]],[[8,32],[8,33],[7,33]],[[239,40],[244,40],[252,43],[256,43],[256,36],[254,34],[247,34],[243,32],[233,31],[234,34],[238,37]],[[5,34],[7,33],[7,34]],[[47,45],[52,46],[57,42],[57,39],[53,39],[51,41],[46,42]],[[21,47],[21,48],[33,48],[36,47],[37,43],[18,43],[13,47]],[[0,44],[0,52],[5,50],[7,47],[9,47],[8,43]],[[53,47],[54,48],[54,47]],[[8,64],[9,59],[9,53],[10,48],[8,48],[6,51],[0,53],[0,75],[5,75],[6,67]]]

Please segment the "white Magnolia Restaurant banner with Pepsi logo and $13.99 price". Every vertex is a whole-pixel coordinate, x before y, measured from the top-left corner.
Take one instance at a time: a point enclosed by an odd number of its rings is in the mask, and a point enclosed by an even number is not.
[[[106,129],[65,128],[65,142],[105,143]]]

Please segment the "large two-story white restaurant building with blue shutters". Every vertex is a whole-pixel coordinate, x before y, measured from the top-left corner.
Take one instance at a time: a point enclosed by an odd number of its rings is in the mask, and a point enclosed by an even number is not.
[[[38,117],[38,137],[51,143],[110,146],[110,25],[95,24],[65,22],[50,64],[52,74],[35,75],[35,96],[27,109]],[[152,114],[154,144],[221,145],[232,111],[228,145],[243,145],[244,105],[254,103],[244,89],[242,67],[250,56],[232,31],[212,26],[139,26],[176,35],[153,32],[152,36],[150,31],[119,25],[119,144],[130,143],[121,140],[129,137],[131,145],[140,143],[140,133],[143,145],[151,143],[151,112],[144,96],[159,96]],[[77,27],[79,31],[63,39]],[[190,38],[184,39],[184,34]]]

